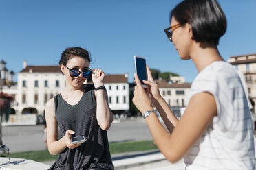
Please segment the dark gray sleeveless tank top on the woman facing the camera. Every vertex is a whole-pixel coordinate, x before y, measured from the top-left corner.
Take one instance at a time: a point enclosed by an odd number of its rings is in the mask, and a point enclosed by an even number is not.
[[[58,122],[58,138],[73,130],[75,136],[85,136],[87,141],[74,149],[66,148],[50,169],[114,169],[109,152],[107,131],[102,130],[96,119],[94,85],[87,84],[78,104],[70,105],[58,94],[54,97]]]

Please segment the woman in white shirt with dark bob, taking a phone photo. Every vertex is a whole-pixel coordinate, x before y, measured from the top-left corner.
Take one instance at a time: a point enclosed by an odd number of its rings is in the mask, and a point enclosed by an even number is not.
[[[189,104],[178,120],[161,97],[149,66],[149,86],[137,86],[133,102],[154,141],[170,162],[184,158],[185,169],[255,169],[253,123],[239,75],[217,49],[226,16],[215,0],[185,0],[171,12],[167,36],[182,60],[193,60],[198,76]],[[171,30],[171,32],[169,32]],[[154,114],[156,106],[167,130]]]

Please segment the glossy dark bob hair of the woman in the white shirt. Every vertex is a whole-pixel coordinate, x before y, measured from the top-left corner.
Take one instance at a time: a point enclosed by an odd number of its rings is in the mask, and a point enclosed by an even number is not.
[[[226,32],[226,16],[216,0],[184,0],[170,14],[180,25],[189,23],[196,42],[219,44]]]

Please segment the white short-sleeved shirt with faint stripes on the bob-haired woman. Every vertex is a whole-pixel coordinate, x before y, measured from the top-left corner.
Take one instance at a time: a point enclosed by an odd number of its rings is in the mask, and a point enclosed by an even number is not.
[[[184,157],[186,169],[255,170],[253,122],[233,66],[222,61],[206,66],[195,78],[189,99],[202,92],[215,97],[217,116]]]

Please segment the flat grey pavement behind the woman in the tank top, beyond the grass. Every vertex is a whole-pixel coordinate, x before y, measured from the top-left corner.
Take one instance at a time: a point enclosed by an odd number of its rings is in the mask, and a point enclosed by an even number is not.
[[[109,142],[152,139],[143,119],[112,123],[107,133]],[[43,125],[3,127],[3,144],[10,148],[10,152],[43,150]]]

